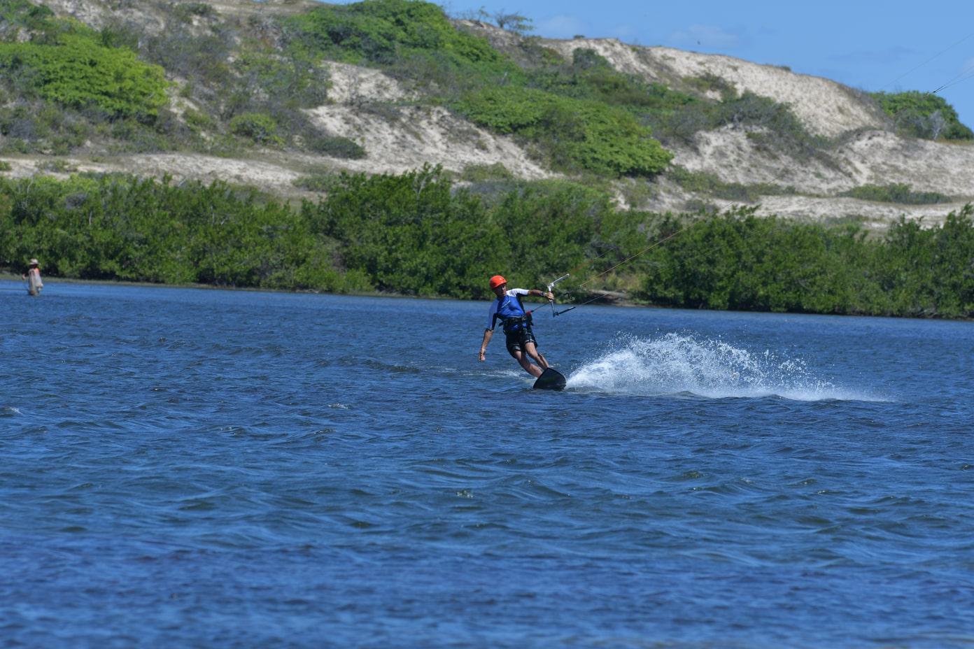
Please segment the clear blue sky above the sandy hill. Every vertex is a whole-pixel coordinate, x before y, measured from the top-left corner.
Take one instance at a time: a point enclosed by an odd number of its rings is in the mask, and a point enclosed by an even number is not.
[[[334,1],[334,0],[332,0]],[[343,3],[344,4],[344,3]],[[533,20],[549,38],[614,37],[728,54],[833,79],[862,90],[931,91],[974,127],[974,4],[971,0],[449,0],[453,17],[483,9]],[[944,52],[946,50],[946,52]]]

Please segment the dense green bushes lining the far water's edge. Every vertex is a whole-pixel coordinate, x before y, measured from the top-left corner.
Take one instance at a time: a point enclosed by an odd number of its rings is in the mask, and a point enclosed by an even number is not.
[[[969,318],[972,217],[876,235],[754,208],[623,211],[564,180],[458,187],[429,166],[336,175],[300,206],[222,182],[0,178],[0,269],[37,257],[64,279],[459,299],[489,299],[501,271],[518,285],[572,272],[563,303]]]

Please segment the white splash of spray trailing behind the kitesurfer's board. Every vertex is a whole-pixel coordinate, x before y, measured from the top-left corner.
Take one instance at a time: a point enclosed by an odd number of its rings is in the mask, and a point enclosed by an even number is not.
[[[618,338],[572,372],[568,388],[638,396],[690,393],[711,399],[879,400],[814,377],[801,360],[681,334]]]

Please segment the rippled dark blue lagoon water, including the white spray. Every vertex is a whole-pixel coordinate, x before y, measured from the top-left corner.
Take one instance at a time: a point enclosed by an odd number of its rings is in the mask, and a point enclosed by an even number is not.
[[[974,324],[0,302],[0,647],[974,644]]]

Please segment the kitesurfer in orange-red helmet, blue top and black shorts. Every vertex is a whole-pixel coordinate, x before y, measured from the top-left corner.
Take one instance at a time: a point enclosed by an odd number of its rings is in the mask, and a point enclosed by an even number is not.
[[[487,343],[490,343],[491,337],[494,336],[494,327],[500,320],[506,337],[507,352],[532,377],[542,376],[543,371],[547,369],[547,361],[538,352],[538,341],[531,331],[531,313],[528,313],[521,304],[521,296],[534,295],[552,301],[554,295],[550,291],[544,292],[539,289],[508,290],[507,280],[501,275],[490,278],[490,288],[497,296],[497,300],[491,303],[490,311],[487,313],[487,329],[484,330],[483,343],[480,343],[480,360],[484,360]]]

